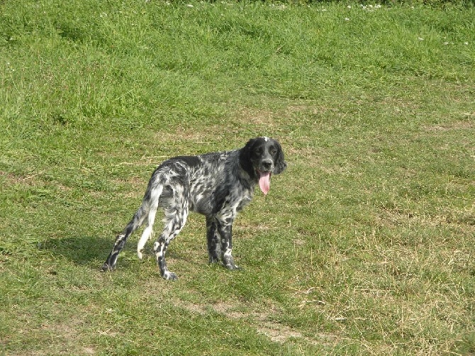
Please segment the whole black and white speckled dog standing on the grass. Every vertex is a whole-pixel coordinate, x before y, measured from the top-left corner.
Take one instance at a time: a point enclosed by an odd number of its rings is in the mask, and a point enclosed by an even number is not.
[[[177,279],[177,275],[167,269],[165,251],[183,228],[190,210],[206,216],[209,262],[218,262],[220,257],[225,267],[238,269],[231,255],[233,221],[238,211],[252,200],[255,185],[259,184],[267,194],[271,175],[285,168],[281,145],[267,137],[249,140],[239,150],[174,157],[163,162],[153,172],[142,206],[117,236],[102,270],[116,267],[125,241],[146,222],[137,246],[138,257],[142,258],[159,206],[164,209],[165,226],[153,250],[164,279]]]

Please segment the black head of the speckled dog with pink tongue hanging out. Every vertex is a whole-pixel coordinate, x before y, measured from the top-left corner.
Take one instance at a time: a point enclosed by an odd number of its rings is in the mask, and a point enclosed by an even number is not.
[[[247,141],[240,152],[240,165],[252,179],[259,182],[259,187],[267,194],[272,174],[284,172],[287,163],[281,145],[272,138],[259,137]]]

